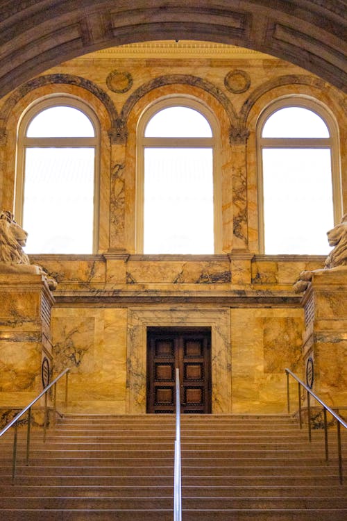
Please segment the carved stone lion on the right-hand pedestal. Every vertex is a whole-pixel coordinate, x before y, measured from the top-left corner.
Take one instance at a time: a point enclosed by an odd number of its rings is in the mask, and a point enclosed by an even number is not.
[[[324,269],[315,270],[313,272],[301,272],[298,281],[294,284],[294,291],[296,293],[301,293],[307,289],[314,272],[335,270],[341,266],[347,266],[347,213],[342,217],[339,224],[327,232],[327,235],[329,245],[335,246],[335,248],[330,251],[330,254],[325,259]]]

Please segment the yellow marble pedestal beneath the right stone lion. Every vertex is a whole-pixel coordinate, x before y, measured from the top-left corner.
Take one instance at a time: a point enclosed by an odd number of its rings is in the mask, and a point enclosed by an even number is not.
[[[314,272],[302,303],[304,381],[326,404],[346,406],[347,266]]]

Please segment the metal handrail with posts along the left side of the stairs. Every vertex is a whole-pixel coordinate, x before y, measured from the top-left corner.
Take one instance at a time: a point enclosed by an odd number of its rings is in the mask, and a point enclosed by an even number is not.
[[[30,435],[31,435],[31,408],[35,403],[44,396],[44,442],[46,441],[46,430],[49,422],[49,414],[48,414],[48,407],[47,407],[47,399],[48,394],[47,392],[54,386],[53,389],[53,424],[56,422],[56,398],[57,398],[57,382],[66,375],[65,379],[65,406],[67,406],[67,391],[68,391],[68,374],[69,369],[65,369],[62,373],[59,374],[56,379],[54,379],[49,386],[45,387],[42,392],[40,392],[40,395],[38,395],[35,399],[33,399],[33,402],[28,404],[22,411],[20,411],[13,420],[10,421],[5,427],[3,427],[2,431],[0,431],[0,438],[5,434],[13,425],[15,426],[15,436],[13,438],[13,456],[12,456],[12,485],[15,484],[15,475],[16,475],[16,463],[17,463],[17,434],[18,434],[18,422],[22,416],[26,412],[28,412],[28,428],[26,431],[26,465],[29,464],[29,453],[30,453]]]

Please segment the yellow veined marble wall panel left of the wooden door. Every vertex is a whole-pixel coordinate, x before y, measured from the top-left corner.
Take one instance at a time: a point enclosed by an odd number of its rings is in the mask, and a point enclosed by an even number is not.
[[[55,372],[70,368],[69,410],[124,413],[126,310],[55,308],[52,331]]]

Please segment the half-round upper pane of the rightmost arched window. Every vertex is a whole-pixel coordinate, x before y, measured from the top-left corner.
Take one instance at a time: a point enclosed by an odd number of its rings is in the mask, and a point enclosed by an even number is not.
[[[263,138],[329,138],[323,119],[308,108],[280,108],[267,119]]]

